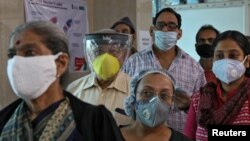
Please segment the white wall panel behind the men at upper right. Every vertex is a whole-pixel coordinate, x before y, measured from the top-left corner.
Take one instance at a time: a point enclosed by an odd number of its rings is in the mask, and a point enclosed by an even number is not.
[[[183,36],[178,45],[196,60],[195,35],[204,24],[211,24],[220,32],[238,30],[249,35],[248,1],[204,3],[173,7],[182,16]]]

